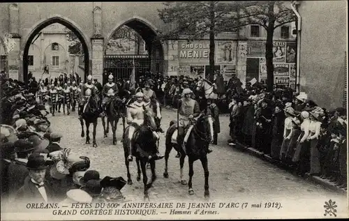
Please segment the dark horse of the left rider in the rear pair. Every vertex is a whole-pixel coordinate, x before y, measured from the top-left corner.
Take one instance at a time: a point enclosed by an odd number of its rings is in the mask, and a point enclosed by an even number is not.
[[[98,116],[100,114],[100,108],[98,107],[98,97],[97,96],[90,96],[86,103],[82,107],[82,118],[80,119],[81,124],[81,137],[84,137],[84,121],[86,124],[86,144],[89,144],[89,125],[91,123],[94,124],[94,132],[93,135],[93,146],[97,147],[96,144],[96,127],[97,127],[97,120]]]

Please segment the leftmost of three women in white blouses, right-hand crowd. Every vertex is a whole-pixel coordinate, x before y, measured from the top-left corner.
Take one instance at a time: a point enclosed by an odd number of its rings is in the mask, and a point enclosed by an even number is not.
[[[290,144],[290,139],[292,136],[292,118],[295,117],[295,110],[290,106],[286,107],[283,112],[285,113],[285,122],[283,126],[283,143],[281,144],[279,155],[280,160],[285,160],[285,153],[287,151],[288,144]]]

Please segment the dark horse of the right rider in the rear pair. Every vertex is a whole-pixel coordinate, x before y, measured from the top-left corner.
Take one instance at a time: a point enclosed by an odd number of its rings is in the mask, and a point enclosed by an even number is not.
[[[106,107],[106,115],[107,115],[107,128],[105,128],[105,117],[102,117],[103,123],[103,131],[104,137],[107,137],[107,133],[109,132],[109,123],[112,126],[112,144],[117,144],[117,123],[119,123],[119,119],[122,118],[123,124],[123,132],[125,132],[125,114],[124,114],[125,104],[116,96],[112,97],[109,104]]]

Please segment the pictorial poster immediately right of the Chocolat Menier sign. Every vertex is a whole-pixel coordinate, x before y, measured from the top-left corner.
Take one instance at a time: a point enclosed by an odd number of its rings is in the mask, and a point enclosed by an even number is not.
[[[234,41],[218,41],[216,45],[217,64],[235,64],[237,45]]]

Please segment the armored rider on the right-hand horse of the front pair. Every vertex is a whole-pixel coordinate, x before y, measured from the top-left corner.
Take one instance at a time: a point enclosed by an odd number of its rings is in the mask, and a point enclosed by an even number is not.
[[[191,120],[200,115],[199,104],[196,100],[191,98],[193,91],[191,89],[184,89],[182,96],[179,99],[179,127],[177,144],[181,147],[184,142],[184,131],[191,124]],[[211,153],[211,149],[208,149],[208,153]],[[176,158],[180,158],[180,152],[177,153]]]

